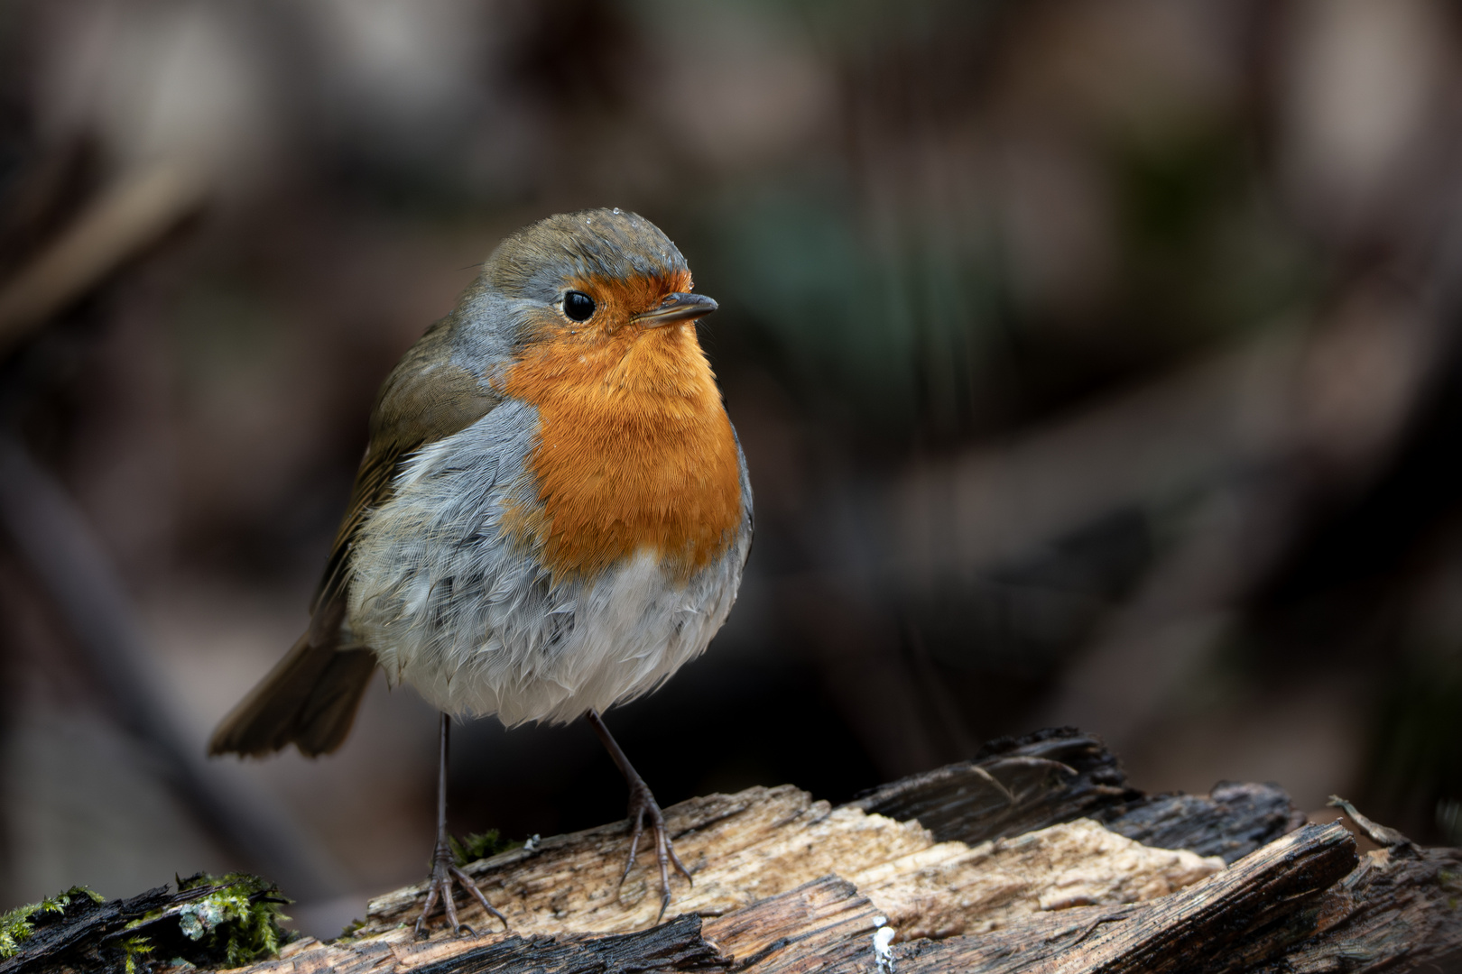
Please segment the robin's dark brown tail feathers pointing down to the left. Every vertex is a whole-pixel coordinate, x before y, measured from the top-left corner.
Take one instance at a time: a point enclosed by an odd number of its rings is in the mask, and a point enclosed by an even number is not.
[[[376,672],[370,650],[342,650],[333,634],[311,625],[298,643],[224,717],[211,755],[265,755],[294,743],[310,758],[341,746]]]

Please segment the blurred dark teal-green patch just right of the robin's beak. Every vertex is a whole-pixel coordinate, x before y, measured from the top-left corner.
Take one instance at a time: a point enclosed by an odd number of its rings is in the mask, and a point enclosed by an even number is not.
[[[917,222],[874,242],[855,215],[846,196],[795,183],[728,206],[716,248],[728,298],[810,399],[833,396],[887,434],[925,409],[959,415],[994,334],[990,261]]]

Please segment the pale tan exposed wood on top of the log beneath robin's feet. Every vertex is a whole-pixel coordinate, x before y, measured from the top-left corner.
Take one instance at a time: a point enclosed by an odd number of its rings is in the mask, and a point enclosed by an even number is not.
[[[667,809],[694,886],[673,910],[724,916],[827,875],[852,882],[902,937],[988,930],[1054,907],[1161,897],[1224,867],[1219,859],[1148,848],[1088,821],[982,843],[936,843],[918,822],[833,809],[792,787],[749,789]],[[652,863],[624,886],[626,825],[551,838],[466,867],[516,933],[623,933],[654,923]],[[371,901],[358,936],[406,937],[423,886]],[[491,929],[459,900],[463,921]],[[481,924],[481,926],[480,926]]]

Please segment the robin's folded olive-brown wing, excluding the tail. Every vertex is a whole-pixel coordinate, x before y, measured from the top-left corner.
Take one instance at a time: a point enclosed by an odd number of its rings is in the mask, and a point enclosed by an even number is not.
[[[367,515],[390,499],[401,464],[421,447],[466,429],[499,402],[477,374],[452,361],[450,318],[431,326],[411,346],[380,387],[371,410],[370,442],[310,606],[313,615],[323,615],[322,609],[345,594],[351,545]]]

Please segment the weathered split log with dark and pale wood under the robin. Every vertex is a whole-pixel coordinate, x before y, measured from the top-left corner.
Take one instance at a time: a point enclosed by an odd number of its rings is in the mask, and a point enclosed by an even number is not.
[[[466,867],[512,932],[462,897],[481,936],[415,940],[424,891],[408,886],[373,900],[351,937],[240,970],[1462,971],[1462,851],[1358,813],[1307,825],[1273,786],[1145,796],[1072,729],[842,808],[757,787],[667,819],[694,886],[677,881],[677,916],[658,926],[654,866],[618,883],[617,822]],[[53,945],[15,970],[60,970],[54,958]]]

